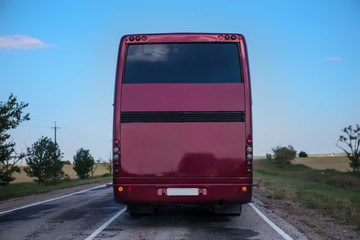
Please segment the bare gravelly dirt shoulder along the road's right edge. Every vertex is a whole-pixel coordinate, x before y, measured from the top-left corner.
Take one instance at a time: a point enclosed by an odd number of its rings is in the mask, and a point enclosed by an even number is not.
[[[356,231],[356,227],[336,223],[334,219],[297,202],[268,198],[268,192],[264,187],[254,190],[253,196],[265,208],[296,226],[309,239],[360,239],[360,232]]]

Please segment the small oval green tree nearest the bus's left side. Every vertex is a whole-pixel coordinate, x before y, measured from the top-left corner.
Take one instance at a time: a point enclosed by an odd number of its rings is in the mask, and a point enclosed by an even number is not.
[[[89,177],[89,172],[95,164],[94,158],[90,154],[90,150],[80,148],[74,156],[74,167],[76,174],[79,178]]]

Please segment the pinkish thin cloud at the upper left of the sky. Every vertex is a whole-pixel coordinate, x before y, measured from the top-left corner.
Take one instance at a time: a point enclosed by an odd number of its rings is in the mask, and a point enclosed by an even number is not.
[[[37,38],[24,35],[8,35],[0,37],[0,48],[5,49],[34,49],[52,46],[53,45],[46,44]]]

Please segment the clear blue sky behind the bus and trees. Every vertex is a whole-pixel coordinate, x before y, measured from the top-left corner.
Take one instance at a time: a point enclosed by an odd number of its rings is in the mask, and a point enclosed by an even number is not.
[[[13,93],[31,118],[11,131],[18,150],[56,121],[64,160],[80,147],[108,159],[120,38],[161,32],[245,36],[255,155],[337,153],[360,123],[359,1],[1,0],[0,101]]]

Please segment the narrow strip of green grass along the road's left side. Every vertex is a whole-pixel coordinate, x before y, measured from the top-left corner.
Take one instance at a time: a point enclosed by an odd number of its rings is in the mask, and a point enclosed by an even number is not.
[[[87,179],[68,179],[57,184],[38,184],[35,182],[12,183],[6,187],[0,186],[0,201],[12,198],[25,197],[29,195],[51,192],[58,189],[76,187],[89,183],[111,181],[112,175],[104,174]],[[105,186],[105,185],[104,185]]]

